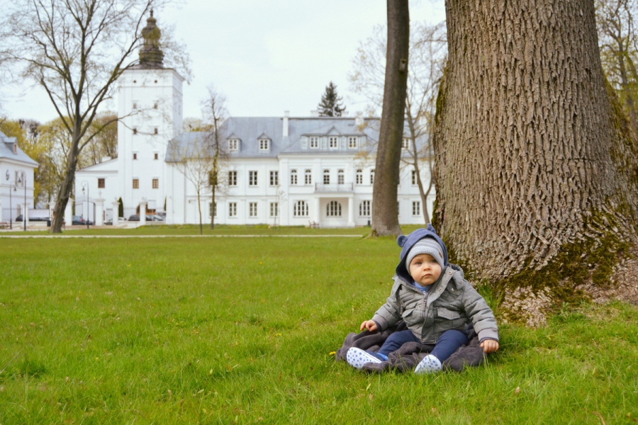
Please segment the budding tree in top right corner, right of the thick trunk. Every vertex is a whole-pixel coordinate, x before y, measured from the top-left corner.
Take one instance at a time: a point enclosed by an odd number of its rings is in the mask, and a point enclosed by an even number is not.
[[[638,134],[638,36],[636,0],[595,0],[600,60],[623,110]]]

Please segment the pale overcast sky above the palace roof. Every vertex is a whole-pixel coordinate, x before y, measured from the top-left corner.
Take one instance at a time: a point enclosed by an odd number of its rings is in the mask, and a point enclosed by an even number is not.
[[[201,116],[206,86],[214,84],[233,116],[308,116],[330,81],[350,114],[364,110],[349,91],[347,74],[359,40],[386,22],[384,0],[188,0],[156,11],[171,23],[189,51],[194,79],[184,84],[184,117]],[[410,2],[410,21],[438,23],[442,0]],[[161,27],[160,27],[161,29]],[[2,112],[9,118],[55,118],[39,88],[4,87]],[[116,109],[116,103],[106,105]]]

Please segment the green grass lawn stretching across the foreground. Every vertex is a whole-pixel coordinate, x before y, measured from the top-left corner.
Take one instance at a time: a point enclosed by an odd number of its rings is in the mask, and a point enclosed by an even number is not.
[[[503,325],[500,351],[464,373],[335,362],[388,296],[391,238],[0,247],[3,425],[638,421],[638,310],[620,303]]]

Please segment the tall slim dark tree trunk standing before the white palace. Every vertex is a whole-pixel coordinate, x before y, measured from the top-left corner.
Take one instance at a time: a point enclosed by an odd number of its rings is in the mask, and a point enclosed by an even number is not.
[[[410,13],[408,0],[388,0],[388,51],[384,106],[372,190],[372,235],[401,234],[397,191],[403,138],[403,111],[408,89]]]

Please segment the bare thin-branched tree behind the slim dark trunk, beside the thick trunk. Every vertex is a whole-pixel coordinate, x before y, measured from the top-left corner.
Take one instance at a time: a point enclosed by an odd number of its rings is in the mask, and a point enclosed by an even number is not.
[[[383,99],[384,66],[386,62],[386,35],[384,26],[375,26],[373,34],[359,43],[352,60],[354,71],[348,78],[352,89],[365,96],[372,115],[381,108]],[[408,89],[405,97],[405,124],[409,142],[404,147],[401,163],[415,171],[422,213],[430,222],[427,197],[432,191],[432,130],[434,129],[435,100],[447,58],[445,24],[431,26],[416,24],[410,31],[410,64]],[[429,170],[424,183],[422,166]]]

